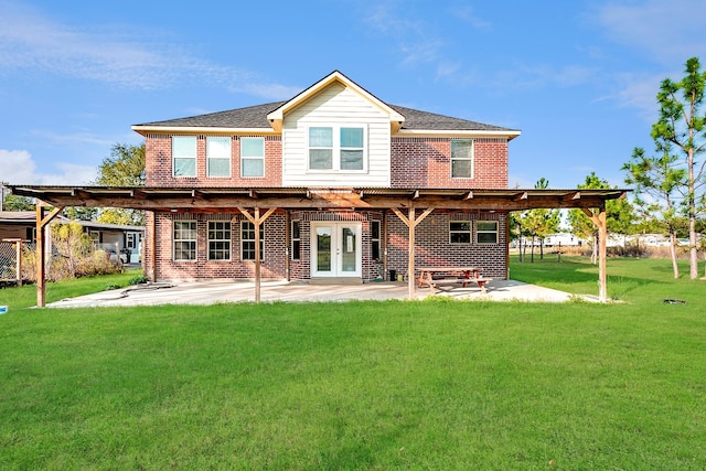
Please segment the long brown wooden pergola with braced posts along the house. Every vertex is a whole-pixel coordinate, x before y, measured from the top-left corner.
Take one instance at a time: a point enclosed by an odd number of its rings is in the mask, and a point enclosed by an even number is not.
[[[38,307],[45,304],[44,234],[46,225],[66,206],[124,207],[170,213],[239,211],[255,226],[255,301],[260,300],[259,227],[277,210],[392,211],[409,231],[408,272],[415,272],[415,228],[435,210],[512,212],[535,208],[580,208],[599,232],[599,299],[606,286],[606,202],[624,197],[627,190],[499,190],[381,188],[147,188],[10,185],[12,193],[36,199]],[[51,206],[52,208],[47,208]],[[418,211],[420,213],[418,213]],[[152,218],[152,225],[154,218]],[[156,227],[150,227],[156,236]],[[152,244],[154,240],[152,240]],[[151,251],[156,267],[156,250]],[[154,275],[153,275],[154,277]],[[414,276],[409,299],[415,299]]]

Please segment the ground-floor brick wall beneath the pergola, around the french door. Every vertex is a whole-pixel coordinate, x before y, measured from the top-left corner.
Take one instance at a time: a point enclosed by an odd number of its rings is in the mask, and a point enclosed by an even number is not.
[[[151,221],[148,213],[148,231]],[[255,277],[255,263],[240,260],[240,221],[244,216],[237,214],[179,214],[157,213],[157,279],[207,279],[207,278],[245,278]],[[318,212],[292,211],[290,221],[300,222],[301,256],[298,260],[289,260],[289,277],[292,280],[307,280],[311,277],[311,223],[315,221],[355,221],[362,225],[363,249],[363,280],[373,280],[378,275],[378,266],[371,257],[371,221],[381,221],[382,228],[386,227],[387,237],[382,240],[382,250],[387,249],[387,269],[397,274],[407,272],[408,263],[408,228],[396,215],[382,212]],[[190,261],[174,261],[172,246],[172,222],[196,221],[197,258]],[[212,261],[207,259],[207,226],[208,221],[231,221],[231,260]],[[471,244],[450,244],[449,223],[451,221],[471,222]],[[498,221],[498,244],[477,244],[475,221]],[[286,240],[287,217],[278,212],[265,221],[265,251],[261,264],[263,278],[287,278],[288,243]],[[483,275],[505,279],[506,277],[506,239],[507,215],[504,213],[479,214],[475,212],[442,212],[435,211],[416,228],[417,244],[415,261],[417,266],[472,265],[483,267]],[[384,233],[383,233],[384,235]],[[151,238],[145,240],[146,270],[151,274]],[[386,276],[386,274],[381,274]]]

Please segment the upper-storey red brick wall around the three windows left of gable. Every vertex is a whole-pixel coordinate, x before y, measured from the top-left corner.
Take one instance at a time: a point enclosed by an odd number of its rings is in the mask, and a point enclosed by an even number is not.
[[[206,137],[196,137],[196,176],[173,176],[171,135],[147,135],[145,139],[147,186],[281,186],[282,141],[279,136],[265,138],[265,176],[240,176],[240,138],[231,136],[231,176],[206,176]]]

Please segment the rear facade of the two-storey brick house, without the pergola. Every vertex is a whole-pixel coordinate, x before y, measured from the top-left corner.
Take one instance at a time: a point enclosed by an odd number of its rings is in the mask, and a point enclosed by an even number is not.
[[[133,126],[146,186],[335,195],[506,189],[518,131],[388,105],[340,72],[288,101]],[[194,197],[196,196],[194,192]],[[437,207],[416,226],[417,266],[481,266],[507,277],[507,212]],[[154,279],[250,279],[255,225],[237,207],[149,212]],[[151,234],[153,232],[153,234]],[[260,226],[263,278],[406,278],[409,228],[392,208],[278,207]]]

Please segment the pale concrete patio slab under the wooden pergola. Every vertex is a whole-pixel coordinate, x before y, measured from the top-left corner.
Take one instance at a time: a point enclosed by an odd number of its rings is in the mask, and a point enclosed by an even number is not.
[[[571,295],[514,280],[493,280],[488,292],[475,286],[458,287],[432,295],[429,288],[416,290],[416,298],[429,296],[478,301],[566,302]],[[222,302],[253,302],[252,281],[208,280],[157,282],[101,291],[49,303],[49,308],[89,308],[111,306],[213,304]],[[299,281],[264,281],[261,302],[328,302],[350,300],[408,299],[406,282],[371,282],[364,285],[309,285]]]

